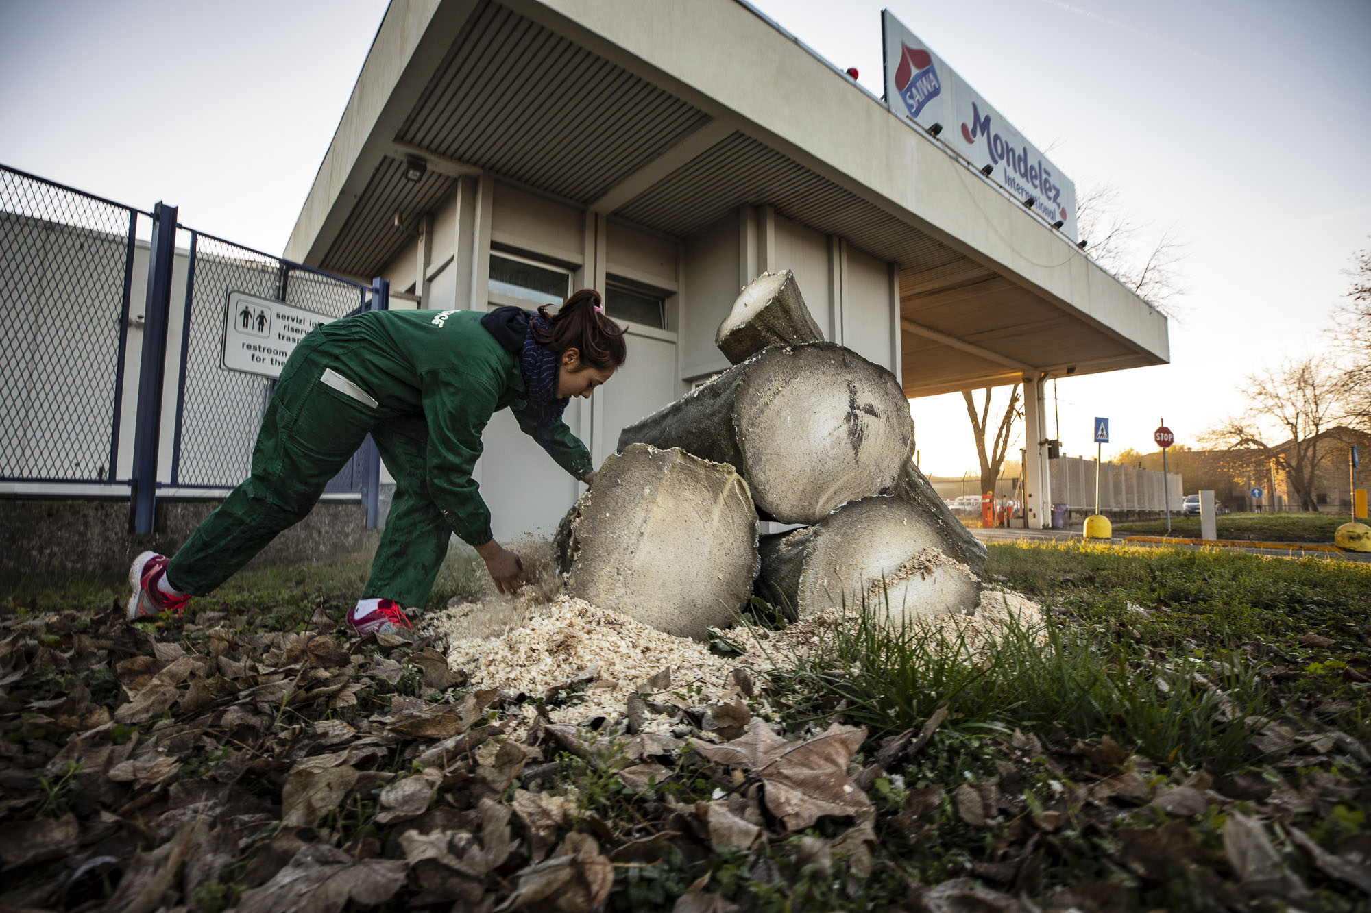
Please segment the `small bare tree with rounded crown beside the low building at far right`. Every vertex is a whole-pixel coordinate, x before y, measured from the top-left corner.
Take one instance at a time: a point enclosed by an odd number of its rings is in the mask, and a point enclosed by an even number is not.
[[[1328,439],[1320,436],[1342,418],[1337,369],[1319,356],[1298,358],[1249,374],[1239,392],[1248,410],[1211,429],[1205,440],[1230,448],[1233,458],[1275,466],[1300,509],[1318,513],[1315,477],[1331,455]]]

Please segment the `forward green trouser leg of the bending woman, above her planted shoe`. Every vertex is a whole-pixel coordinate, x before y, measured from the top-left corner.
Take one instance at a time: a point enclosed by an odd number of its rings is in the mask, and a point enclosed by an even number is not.
[[[362,598],[424,607],[452,536],[429,496],[428,425],[422,418],[396,418],[378,424],[372,437],[395,477],[395,498]]]

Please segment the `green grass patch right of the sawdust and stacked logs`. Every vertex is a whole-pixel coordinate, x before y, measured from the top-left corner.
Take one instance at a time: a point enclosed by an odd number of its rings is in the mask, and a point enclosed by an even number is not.
[[[1220,773],[1261,761],[1249,738],[1307,692],[1334,707],[1334,725],[1371,735],[1361,685],[1339,674],[1349,664],[1371,664],[1361,639],[1371,568],[991,544],[987,572],[1047,606],[1046,622],[1010,625],[976,653],[941,631],[891,631],[873,617],[883,613],[862,606],[781,679],[780,699],[816,718],[840,703],[845,718],[877,735],[917,728],[946,702],[962,731],[1060,727]],[[1309,633],[1334,639],[1334,657],[1301,643]],[[1272,653],[1293,666],[1278,680],[1263,674],[1270,664],[1261,657]]]

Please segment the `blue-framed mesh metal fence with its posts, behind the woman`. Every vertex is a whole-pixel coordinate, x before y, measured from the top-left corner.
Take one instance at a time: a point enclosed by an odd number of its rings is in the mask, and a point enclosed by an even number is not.
[[[276,384],[223,366],[229,295],[336,319],[388,291],[0,166],[0,492],[130,496],[136,532],[159,489],[226,494]],[[369,439],[325,492],[374,526],[378,474]]]

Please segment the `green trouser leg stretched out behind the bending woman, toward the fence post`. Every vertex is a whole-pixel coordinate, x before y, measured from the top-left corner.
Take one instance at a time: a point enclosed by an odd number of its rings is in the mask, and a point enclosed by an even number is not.
[[[372,407],[319,382],[332,358],[306,337],[287,361],[252,448],[252,474],[204,518],[167,566],[173,587],[203,596],[281,531],[308,515],[376,422]]]

